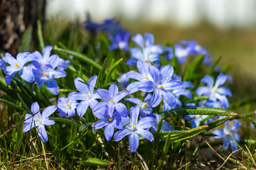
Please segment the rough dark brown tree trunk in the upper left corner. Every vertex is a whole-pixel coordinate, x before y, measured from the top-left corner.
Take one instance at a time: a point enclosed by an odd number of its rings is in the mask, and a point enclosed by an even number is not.
[[[45,22],[46,0],[0,0],[0,50],[16,55],[21,37],[33,29],[33,42],[38,46],[36,21]]]

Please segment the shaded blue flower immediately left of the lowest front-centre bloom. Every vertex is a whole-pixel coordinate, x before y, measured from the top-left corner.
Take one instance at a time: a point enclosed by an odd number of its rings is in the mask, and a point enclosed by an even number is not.
[[[105,111],[107,111],[107,110],[105,110]],[[128,117],[126,117],[126,118],[122,117],[122,115],[120,115],[117,112],[114,112],[112,117],[110,117],[110,115],[107,114],[107,112],[93,113],[93,114],[100,120],[97,121],[96,123],[93,123],[92,127],[95,129],[100,129],[100,128],[105,127],[104,135],[105,135],[107,141],[110,141],[112,136],[114,135],[114,128],[122,129],[122,128],[124,128],[124,125],[129,123]]]

